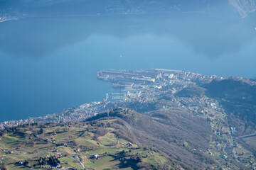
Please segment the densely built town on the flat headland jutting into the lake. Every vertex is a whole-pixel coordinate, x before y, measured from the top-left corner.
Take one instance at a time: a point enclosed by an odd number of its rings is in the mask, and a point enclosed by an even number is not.
[[[166,86],[171,86],[174,94],[186,86],[209,83],[217,76],[204,76],[171,69],[151,69],[147,71],[103,70],[97,73],[97,78],[111,82],[114,88],[121,89],[120,96],[126,94],[125,99],[129,99],[136,98],[144,91],[163,89]],[[115,98],[117,95],[107,99],[111,101]]]

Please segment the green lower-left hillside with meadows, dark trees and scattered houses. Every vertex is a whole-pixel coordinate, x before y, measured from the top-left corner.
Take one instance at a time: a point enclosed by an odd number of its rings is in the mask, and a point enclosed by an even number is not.
[[[156,149],[117,135],[114,121],[6,128],[0,140],[0,169],[170,169]]]

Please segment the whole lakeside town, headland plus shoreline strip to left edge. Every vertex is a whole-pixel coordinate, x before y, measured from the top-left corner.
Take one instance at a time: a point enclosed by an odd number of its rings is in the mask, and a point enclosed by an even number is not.
[[[160,95],[170,91],[175,94],[176,91],[180,91],[186,86],[208,83],[216,76],[204,76],[171,69],[151,69],[146,71],[103,70],[97,73],[97,78],[110,81],[114,88],[120,89],[120,93],[106,94],[106,98],[102,101],[85,103],[75,108],[66,108],[60,113],[24,120],[6,120],[0,123],[0,128],[36,122],[58,123],[82,120],[102,111],[113,109],[117,103],[134,100],[145,102],[150,100],[152,95]],[[167,91],[164,89],[166,86],[169,86]]]

